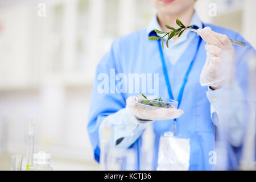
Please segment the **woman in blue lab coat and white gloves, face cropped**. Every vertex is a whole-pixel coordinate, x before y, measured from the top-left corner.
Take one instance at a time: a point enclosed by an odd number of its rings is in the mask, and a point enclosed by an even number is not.
[[[246,55],[253,52],[255,56],[255,50],[237,32],[201,22],[193,9],[195,0],[151,2],[158,13],[150,24],[115,40],[97,66],[88,123],[94,158],[100,161],[102,132],[109,126],[111,146],[134,150],[140,169],[142,134],[151,125],[155,135],[152,169],[213,169],[209,161],[216,129],[230,146],[242,145]],[[185,26],[193,25],[197,33],[186,30],[164,49],[159,41],[147,39],[161,36],[154,29],[170,31],[164,24],[177,28],[176,18]],[[228,38],[246,46],[232,45]],[[136,84],[130,79],[133,76],[142,81]],[[171,98],[179,106],[172,110],[137,106],[139,93]],[[167,131],[174,136],[165,138]]]

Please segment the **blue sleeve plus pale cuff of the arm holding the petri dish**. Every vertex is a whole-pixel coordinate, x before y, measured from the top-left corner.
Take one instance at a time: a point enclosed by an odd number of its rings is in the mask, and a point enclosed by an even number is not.
[[[94,80],[90,108],[88,114],[87,130],[90,143],[92,144],[94,159],[100,162],[100,133],[101,123],[110,121],[112,123],[112,143],[119,148],[127,148],[139,138],[144,127],[134,122],[134,116],[128,114],[125,109],[126,98],[122,93],[115,90],[115,75],[121,73],[119,60],[122,50],[118,41],[113,42],[112,47],[97,65],[96,77]],[[136,118],[135,118],[136,119]],[[130,130],[133,129],[133,130]]]

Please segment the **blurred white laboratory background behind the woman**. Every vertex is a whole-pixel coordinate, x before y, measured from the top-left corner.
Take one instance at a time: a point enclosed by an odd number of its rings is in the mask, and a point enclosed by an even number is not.
[[[255,48],[255,7],[198,0],[195,8],[203,22],[235,30]],[[35,152],[50,153],[53,169],[99,168],[86,131],[96,65],[114,39],[154,14],[150,0],[0,0],[0,170],[11,169],[12,155],[26,164],[32,118]]]

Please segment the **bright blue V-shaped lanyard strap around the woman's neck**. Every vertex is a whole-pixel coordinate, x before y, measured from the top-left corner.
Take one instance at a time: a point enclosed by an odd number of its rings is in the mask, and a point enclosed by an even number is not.
[[[203,25],[203,27],[204,27],[204,25]],[[201,40],[202,40],[202,39],[201,39],[201,37],[199,36],[199,41],[198,41],[198,44],[197,44],[197,48],[196,48],[195,54],[194,54],[194,56],[193,56],[193,59],[192,59],[191,63],[189,64],[189,67],[188,67],[187,72],[185,73],[185,77],[184,77],[184,79],[183,79],[183,84],[181,85],[181,88],[180,88],[179,96],[178,96],[178,98],[177,98],[177,101],[179,102],[178,105],[177,105],[177,109],[179,109],[180,102],[181,102],[181,99],[182,99],[182,96],[183,96],[183,92],[184,92],[184,88],[185,88],[185,85],[186,85],[186,83],[187,83],[189,73],[191,72],[193,63],[195,62],[197,52],[199,51],[199,47],[200,47]],[[169,81],[168,72],[167,72],[167,67],[166,67],[166,62],[165,62],[165,60],[164,60],[163,49],[162,49],[160,40],[158,40],[158,48],[159,48],[160,57],[161,57],[162,65],[163,65],[164,77],[166,78],[166,85],[167,85],[167,89],[168,89],[168,94],[169,94],[170,99],[171,99],[171,100],[174,100],[174,96],[173,96],[173,94],[172,94],[171,84],[170,84],[170,81]],[[176,133],[177,133],[177,132],[176,132],[176,131],[177,131],[177,130],[176,130],[176,126],[177,126],[177,125],[176,125],[176,122],[177,122],[177,119],[175,118],[175,119],[174,119],[174,135],[176,135]]]

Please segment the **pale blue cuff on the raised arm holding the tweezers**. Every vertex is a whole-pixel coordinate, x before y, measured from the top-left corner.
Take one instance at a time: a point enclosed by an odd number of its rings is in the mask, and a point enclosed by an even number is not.
[[[234,82],[229,88],[208,90],[211,118],[223,130],[233,146],[240,146],[245,131],[245,100],[241,88]]]

